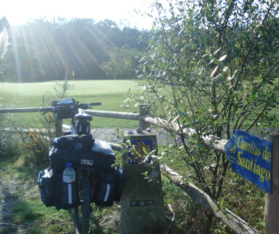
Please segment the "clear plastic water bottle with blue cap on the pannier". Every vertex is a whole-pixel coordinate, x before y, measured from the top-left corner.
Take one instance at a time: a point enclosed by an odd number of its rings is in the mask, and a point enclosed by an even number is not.
[[[63,170],[63,203],[75,203],[77,200],[76,186],[76,174],[73,169],[73,163],[66,163],[66,169]]]

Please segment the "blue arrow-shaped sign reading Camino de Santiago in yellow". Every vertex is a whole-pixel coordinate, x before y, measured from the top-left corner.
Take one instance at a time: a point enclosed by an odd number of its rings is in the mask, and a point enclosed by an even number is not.
[[[225,150],[234,173],[271,193],[271,142],[236,130]]]

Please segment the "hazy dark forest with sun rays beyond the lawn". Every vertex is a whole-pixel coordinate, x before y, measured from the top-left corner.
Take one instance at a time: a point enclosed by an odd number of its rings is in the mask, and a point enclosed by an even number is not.
[[[10,27],[10,46],[0,65],[0,81],[41,82],[47,80],[103,80],[135,78],[138,54],[146,44],[138,38],[147,31],[119,28],[111,20],[42,18]],[[127,62],[129,61],[129,62]]]

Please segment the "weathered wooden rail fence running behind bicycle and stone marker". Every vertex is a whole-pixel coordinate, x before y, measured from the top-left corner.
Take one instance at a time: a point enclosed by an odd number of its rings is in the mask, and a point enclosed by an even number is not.
[[[17,109],[1,109],[0,113],[8,113],[8,112],[40,112],[42,108],[17,108]],[[178,124],[168,123],[167,121],[159,118],[153,118],[149,116],[149,113],[146,112],[146,108],[140,105],[139,113],[131,113],[131,112],[111,112],[111,111],[101,111],[101,110],[85,110],[85,112],[89,115],[95,117],[108,117],[108,118],[116,118],[116,119],[130,119],[139,121],[139,125],[142,130],[146,130],[146,127],[149,124],[154,126],[158,126],[160,128],[166,129],[167,131],[179,131]],[[191,136],[193,134],[193,129],[183,129],[183,133]],[[279,233],[279,219],[278,219],[278,210],[279,210],[279,133],[273,133],[273,168],[272,168],[272,184],[271,184],[271,195],[266,196],[266,209],[264,215],[264,221],[266,224],[266,233]],[[276,137],[275,137],[276,136]],[[207,136],[204,138],[204,143],[211,147],[211,149],[215,149],[218,152],[225,154],[225,144],[227,143],[227,139],[217,139],[214,136]],[[121,145],[110,143],[112,149],[116,151],[121,151]],[[274,160],[275,159],[275,160]],[[276,169],[276,170],[275,170]],[[195,187],[193,184],[186,182],[185,179],[181,177],[178,173],[174,172],[172,169],[167,166],[161,166],[160,168],[163,175],[172,180],[178,187],[186,191],[189,196],[194,198],[199,204],[204,205],[206,210],[212,212],[213,215],[217,218],[220,218],[224,224],[227,224],[233,231],[236,233],[259,233],[259,231],[254,228],[250,228],[248,224],[243,221],[243,219],[236,216],[229,210],[225,210],[223,212],[216,205],[215,201],[209,197],[206,193]],[[276,215],[274,215],[276,213]]]

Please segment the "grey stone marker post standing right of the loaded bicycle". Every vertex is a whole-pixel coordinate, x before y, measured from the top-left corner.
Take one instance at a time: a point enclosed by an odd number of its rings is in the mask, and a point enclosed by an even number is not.
[[[156,133],[152,131],[129,131],[125,136],[130,136],[129,140],[136,149],[144,146],[151,151],[157,149]],[[127,177],[121,197],[120,233],[163,233],[165,208],[159,165],[150,166],[131,160],[124,169]],[[145,172],[154,179],[144,179]]]

